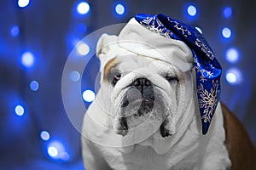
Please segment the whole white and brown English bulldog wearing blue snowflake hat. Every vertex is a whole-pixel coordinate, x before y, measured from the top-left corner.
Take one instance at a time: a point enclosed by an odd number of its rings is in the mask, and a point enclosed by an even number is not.
[[[84,115],[86,169],[256,169],[247,133],[218,101],[221,67],[198,31],[137,14],[118,36],[103,34],[96,55],[101,88]]]

